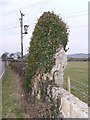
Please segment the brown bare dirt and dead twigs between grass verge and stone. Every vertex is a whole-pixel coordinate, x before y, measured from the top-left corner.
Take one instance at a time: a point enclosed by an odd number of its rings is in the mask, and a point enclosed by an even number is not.
[[[25,118],[46,118],[50,117],[50,103],[36,101],[33,103],[31,98],[24,90],[23,80],[17,75],[18,93],[21,96],[21,104],[24,109]]]

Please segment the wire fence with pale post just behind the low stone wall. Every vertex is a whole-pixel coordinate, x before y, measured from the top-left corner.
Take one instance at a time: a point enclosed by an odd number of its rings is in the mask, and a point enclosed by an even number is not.
[[[68,77],[67,80],[64,81],[64,88],[90,106],[88,82],[83,83],[79,82],[78,80],[72,80],[70,77]]]

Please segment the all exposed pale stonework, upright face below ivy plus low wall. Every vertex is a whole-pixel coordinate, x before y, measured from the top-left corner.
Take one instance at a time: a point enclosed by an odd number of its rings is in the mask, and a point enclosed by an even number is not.
[[[67,65],[63,48],[57,50],[54,59],[55,65],[50,73],[44,74],[41,71],[34,76],[32,95],[52,103],[52,117],[88,118],[87,104],[63,89],[63,75]]]

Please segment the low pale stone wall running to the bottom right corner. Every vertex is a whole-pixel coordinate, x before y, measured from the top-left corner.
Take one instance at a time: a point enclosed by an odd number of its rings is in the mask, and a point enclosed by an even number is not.
[[[88,105],[63,88],[53,88],[53,96],[61,97],[61,112],[64,118],[88,118]],[[54,97],[56,98],[56,97]]]

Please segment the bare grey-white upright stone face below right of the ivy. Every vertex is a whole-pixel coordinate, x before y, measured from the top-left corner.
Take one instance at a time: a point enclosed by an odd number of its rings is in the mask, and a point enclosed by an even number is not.
[[[63,87],[63,75],[67,65],[67,56],[63,48],[57,50],[54,59],[55,65],[51,70],[51,75],[54,77],[55,83],[58,86]]]

